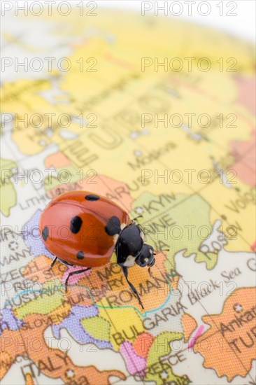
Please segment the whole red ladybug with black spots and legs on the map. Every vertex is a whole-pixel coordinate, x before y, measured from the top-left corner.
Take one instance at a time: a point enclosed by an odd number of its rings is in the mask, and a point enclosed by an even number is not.
[[[128,279],[128,267],[136,263],[148,266],[150,272],[156,253],[152,246],[144,243],[141,226],[131,221],[118,204],[99,194],[69,191],[55,197],[45,207],[39,228],[45,247],[55,255],[50,268],[57,259],[68,266],[86,267],[69,273],[66,289],[70,276],[106,265],[115,251],[117,263],[143,308],[138,291]]]

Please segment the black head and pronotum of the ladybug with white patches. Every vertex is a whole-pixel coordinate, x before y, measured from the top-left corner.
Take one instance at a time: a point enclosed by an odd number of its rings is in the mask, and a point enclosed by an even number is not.
[[[152,266],[155,263],[154,249],[144,243],[144,233],[141,226],[131,223],[120,232],[115,252],[118,265],[131,267],[136,262],[141,267]]]

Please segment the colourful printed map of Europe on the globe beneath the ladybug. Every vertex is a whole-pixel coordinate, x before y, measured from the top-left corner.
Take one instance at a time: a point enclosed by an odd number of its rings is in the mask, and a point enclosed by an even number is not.
[[[255,384],[255,48],[146,9],[3,3],[1,384]],[[115,255],[69,293],[77,268],[49,271],[38,218],[68,190],[170,248],[130,269],[145,311]]]

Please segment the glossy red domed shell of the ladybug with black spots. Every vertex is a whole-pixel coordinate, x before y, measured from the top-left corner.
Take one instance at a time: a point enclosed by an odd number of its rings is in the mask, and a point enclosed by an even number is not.
[[[129,215],[111,200],[88,191],[70,191],[42,211],[39,228],[43,243],[72,265],[105,265],[119,232],[131,223]]]

